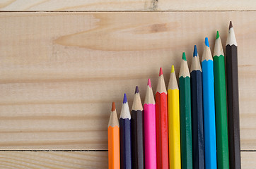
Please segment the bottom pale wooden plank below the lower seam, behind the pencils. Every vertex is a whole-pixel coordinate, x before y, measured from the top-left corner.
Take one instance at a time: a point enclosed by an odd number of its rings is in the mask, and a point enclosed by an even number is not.
[[[242,168],[255,168],[256,152],[241,152]],[[0,152],[0,168],[107,168],[107,152]]]

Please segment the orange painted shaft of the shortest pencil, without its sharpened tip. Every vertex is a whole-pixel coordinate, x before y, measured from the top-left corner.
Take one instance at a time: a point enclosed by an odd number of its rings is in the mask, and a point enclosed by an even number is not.
[[[108,134],[108,168],[120,169],[120,128],[107,128]]]

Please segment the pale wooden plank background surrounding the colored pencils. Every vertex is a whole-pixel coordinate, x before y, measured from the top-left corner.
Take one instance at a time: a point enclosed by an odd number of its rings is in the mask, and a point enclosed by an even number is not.
[[[243,168],[256,167],[256,2],[0,1],[0,168],[107,168],[111,102],[144,101],[182,51],[238,41]],[[40,11],[40,12],[38,12]],[[47,12],[44,12],[47,11]],[[69,12],[66,12],[69,11]]]

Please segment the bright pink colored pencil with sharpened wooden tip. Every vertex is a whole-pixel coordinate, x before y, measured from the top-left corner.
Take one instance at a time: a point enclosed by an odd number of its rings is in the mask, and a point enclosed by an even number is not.
[[[148,80],[144,101],[145,168],[156,169],[156,102]]]

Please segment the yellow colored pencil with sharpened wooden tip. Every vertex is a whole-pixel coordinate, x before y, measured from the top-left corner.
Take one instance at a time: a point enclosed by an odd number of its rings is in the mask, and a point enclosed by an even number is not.
[[[180,169],[180,98],[174,66],[168,85],[168,131],[170,169]]]

